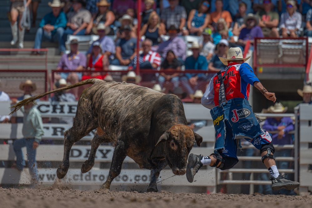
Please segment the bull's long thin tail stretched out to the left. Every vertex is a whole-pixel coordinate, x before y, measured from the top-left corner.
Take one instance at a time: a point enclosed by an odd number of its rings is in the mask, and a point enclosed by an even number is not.
[[[48,94],[60,92],[60,91],[67,90],[67,89],[72,89],[72,88],[79,87],[79,86],[82,86],[85,84],[96,84],[98,82],[105,82],[105,81],[103,81],[101,79],[95,79],[95,78],[94,79],[86,79],[86,80],[83,80],[83,81],[78,82],[76,84],[72,84],[72,85],[69,85],[66,87],[62,87],[62,88],[57,88],[57,89],[51,90],[49,92],[38,94],[38,95],[33,96],[31,98],[27,98],[25,100],[18,102],[16,105],[12,106],[11,109],[14,108],[14,110],[10,113],[10,115],[13,114],[15,111],[17,111],[18,109],[20,109],[23,105],[27,105],[29,103],[34,103],[35,100],[40,99],[40,98],[42,98]]]

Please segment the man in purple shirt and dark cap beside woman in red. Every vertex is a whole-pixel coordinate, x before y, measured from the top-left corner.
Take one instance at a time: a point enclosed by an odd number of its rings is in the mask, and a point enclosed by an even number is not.
[[[70,43],[71,52],[63,54],[61,60],[57,64],[57,70],[81,71],[86,68],[87,58],[78,50],[78,41],[73,39]],[[78,72],[61,72],[54,74],[54,79],[65,79],[71,84],[76,84],[81,80],[82,74]],[[73,88],[73,94],[78,97],[78,88]]]

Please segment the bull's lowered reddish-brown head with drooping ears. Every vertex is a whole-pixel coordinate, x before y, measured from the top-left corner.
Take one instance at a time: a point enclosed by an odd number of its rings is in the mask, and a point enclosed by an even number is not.
[[[166,161],[175,175],[185,174],[187,157],[195,140],[200,146],[203,138],[186,125],[174,125],[159,138],[156,145],[166,143]]]

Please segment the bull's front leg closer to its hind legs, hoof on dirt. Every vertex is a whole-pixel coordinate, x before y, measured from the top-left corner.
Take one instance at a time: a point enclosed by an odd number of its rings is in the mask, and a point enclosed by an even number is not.
[[[116,178],[120,174],[121,166],[126,156],[127,156],[126,144],[123,141],[118,140],[111,161],[111,168],[109,169],[108,178],[102,185],[101,187],[102,190],[108,191],[110,189],[111,181],[114,180],[114,178]]]

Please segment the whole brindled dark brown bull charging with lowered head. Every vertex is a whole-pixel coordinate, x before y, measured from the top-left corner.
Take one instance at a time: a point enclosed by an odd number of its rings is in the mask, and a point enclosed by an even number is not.
[[[93,129],[97,130],[82,173],[92,169],[101,143],[112,142],[115,146],[108,178],[101,189],[110,189],[126,156],[140,168],[151,170],[149,192],[158,191],[157,178],[167,165],[175,175],[186,173],[188,154],[194,142],[200,146],[203,139],[187,126],[183,104],[176,95],[125,82],[87,79],[25,99],[13,106],[13,112],[47,94],[85,84],[93,85],[82,92],[72,128],[64,132],[64,155],[57,169],[59,179],[67,174],[72,145]]]

